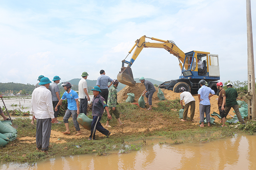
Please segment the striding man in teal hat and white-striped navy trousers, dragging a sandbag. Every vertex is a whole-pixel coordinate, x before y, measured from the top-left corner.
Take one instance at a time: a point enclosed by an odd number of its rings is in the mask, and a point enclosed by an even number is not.
[[[100,133],[106,135],[109,137],[110,132],[109,130],[102,127],[100,123],[100,119],[102,117],[102,114],[104,112],[104,108],[107,111],[107,118],[111,120],[111,115],[109,114],[109,109],[107,108],[107,104],[105,102],[105,99],[100,96],[100,87],[94,86],[92,88],[93,91],[93,99],[92,99],[92,125],[91,125],[91,135],[88,140],[95,140],[95,131],[98,130]]]

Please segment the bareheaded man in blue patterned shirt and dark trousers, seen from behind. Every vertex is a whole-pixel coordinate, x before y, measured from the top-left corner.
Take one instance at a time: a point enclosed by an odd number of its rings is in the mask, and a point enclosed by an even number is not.
[[[113,79],[105,75],[104,70],[100,70],[100,76],[97,79],[96,86],[100,87],[100,96],[102,96],[107,102],[107,97],[109,96],[108,88],[112,85]],[[109,86],[107,85],[110,82]]]

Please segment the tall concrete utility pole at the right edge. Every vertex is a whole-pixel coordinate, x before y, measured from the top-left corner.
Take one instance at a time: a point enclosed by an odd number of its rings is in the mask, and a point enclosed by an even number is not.
[[[251,0],[246,0],[246,20],[247,20],[247,52],[248,52],[248,92],[251,99],[248,100],[248,119],[256,119],[256,94],[255,94],[255,74],[253,56],[253,28],[251,24]]]

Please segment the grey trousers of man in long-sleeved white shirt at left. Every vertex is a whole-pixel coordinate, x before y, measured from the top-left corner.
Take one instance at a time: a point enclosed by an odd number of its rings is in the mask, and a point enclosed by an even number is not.
[[[37,119],[37,131],[35,133],[35,139],[37,148],[44,150],[49,149],[50,135],[52,129],[52,119]]]

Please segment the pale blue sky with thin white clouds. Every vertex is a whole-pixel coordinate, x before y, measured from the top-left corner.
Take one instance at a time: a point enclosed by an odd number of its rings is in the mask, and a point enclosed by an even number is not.
[[[255,1],[251,9],[255,42]],[[1,0],[0,83],[36,84],[40,75],[69,81],[84,71],[95,80],[101,69],[115,79],[144,35],[174,41],[184,53],[218,54],[220,81],[247,80],[246,0]],[[181,75],[178,59],[158,48],[144,48],[131,68],[134,78]]]

